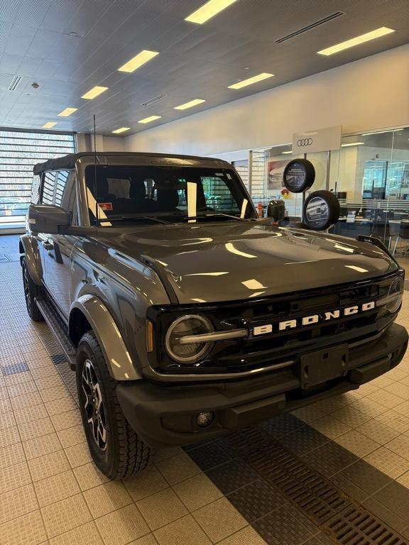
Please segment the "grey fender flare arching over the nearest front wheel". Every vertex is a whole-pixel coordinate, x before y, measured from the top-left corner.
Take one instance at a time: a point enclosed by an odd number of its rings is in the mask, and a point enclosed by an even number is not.
[[[73,302],[70,309],[70,330],[73,309],[79,309],[87,318],[104,353],[111,377],[115,380],[141,379],[126,349],[124,338],[102,300],[95,295],[86,294]]]

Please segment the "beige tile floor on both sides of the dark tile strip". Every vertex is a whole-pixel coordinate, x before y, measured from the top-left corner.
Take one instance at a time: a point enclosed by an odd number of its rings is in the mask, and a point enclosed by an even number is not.
[[[18,263],[0,265],[0,286],[0,545],[265,544],[180,448],[158,451],[124,483],[99,473],[73,373],[59,372],[47,326],[28,319]],[[409,324],[409,292],[399,321]],[[409,356],[359,391],[295,414],[409,487]]]

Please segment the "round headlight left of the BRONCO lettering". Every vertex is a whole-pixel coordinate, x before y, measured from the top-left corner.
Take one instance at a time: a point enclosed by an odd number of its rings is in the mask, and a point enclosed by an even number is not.
[[[170,358],[179,363],[195,363],[204,358],[212,341],[187,342],[187,337],[213,333],[209,320],[197,314],[181,316],[170,324],[165,336],[165,347]]]

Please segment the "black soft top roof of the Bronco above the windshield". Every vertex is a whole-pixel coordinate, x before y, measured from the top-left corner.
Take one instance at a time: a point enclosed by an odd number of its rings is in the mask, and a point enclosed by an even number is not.
[[[196,160],[204,164],[212,162],[218,163],[219,166],[231,167],[229,163],[220,159],[212,159],[207,157],[195,157],[194,155],[173,155],[168,153],[136,153],[136,152],[126,152],[126,151],[106,151],[102,153],[97,152],[97,162],[99,163],[98,158],[106,158],[107,163],[109,164],[109,157],[143,157],[143,158],[156,158],[156,159],[185,159],[185,160]],[[81,153],[69,153],[58,159],[49,159],[45,163],[37,163],[34,165],[33,172],[34,174],[40,174],[40,172],[45,172],[46,170],[63,170],[75,168],[75,163],[81,158],[89,158],[94,160],[94,153],[91,151],[85,151]]]

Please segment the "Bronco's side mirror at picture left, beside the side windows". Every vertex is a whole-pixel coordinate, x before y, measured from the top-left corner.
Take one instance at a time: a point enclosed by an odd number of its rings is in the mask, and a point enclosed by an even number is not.
[[[30,204],[26,222],[28,231],[35,235],[57,235],[61,228],[70,226],[71,214],[55,204]]]

